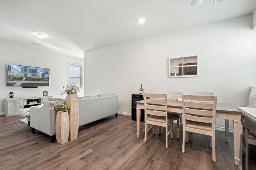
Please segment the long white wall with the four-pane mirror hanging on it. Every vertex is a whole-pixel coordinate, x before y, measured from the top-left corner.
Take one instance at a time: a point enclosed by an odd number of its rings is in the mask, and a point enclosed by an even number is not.
[[[198,54],[199,76],[168,78],[168,57],[190,54]],[[248,106],[255,73],[256,31],[247,15],[87,51],[84,95],[118,94],[118,110],[126,113],[140,84],[150,93],[214,92],[218,102]]]

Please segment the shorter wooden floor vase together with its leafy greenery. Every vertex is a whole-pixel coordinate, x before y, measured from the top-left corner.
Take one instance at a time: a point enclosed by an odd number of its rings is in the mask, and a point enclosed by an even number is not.
[[[56,102],[58,104],[58,102]],[[55,134],[57,143],[63,144],[68,142],[69,137],[69,117],[68,108],[70,105],[51,105],[50,109],[56,110],[56,120],[55,120]]]

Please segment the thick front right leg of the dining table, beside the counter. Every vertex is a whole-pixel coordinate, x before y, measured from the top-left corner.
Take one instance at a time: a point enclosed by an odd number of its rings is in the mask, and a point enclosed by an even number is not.
[[[240,131],[241,131],[241,114],[239,115],[234,115],[234,121],[233,121],[233,128],[234,128],[234,159],[235,159],[235,164],[239,165],[240,159],[239,159],[239,154],[240,154]]]

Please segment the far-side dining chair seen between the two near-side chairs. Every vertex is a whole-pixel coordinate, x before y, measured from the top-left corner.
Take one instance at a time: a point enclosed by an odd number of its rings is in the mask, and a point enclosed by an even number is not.
[[[183,92],[175,92],[175,91],[167,91],[165,90],[165,94],[167,94],[167,100],[177,100],[178,98],[182,98]],[[177,133],[177,138],[179,138],[180,131],[182,131],[182,117],[181,113],[174,113],[174,112],[168,112],[168,116],[171,117],[171,119],[177,121],[177,128],[176,128],[176,133]],[[173,129],[173,123],[172,123],[172,129]],[[159,127],[159,132],[161,131],[161,127]],[[171,139],[173,131],[171,133]]]

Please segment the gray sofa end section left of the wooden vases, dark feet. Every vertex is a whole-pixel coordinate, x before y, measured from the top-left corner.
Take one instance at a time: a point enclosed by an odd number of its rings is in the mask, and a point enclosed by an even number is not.
[[[60,99],[61,100],[61,99]],[[55,138],[55,119],[56,119],[56,111],[52,111],[50,106],[52,104],[65,104],[65,100],[61,101],[46,101],[44,102],[44,106],[40,109],[36,107],[30,107],[30,128],[31,132],[35,133],[35,129],[46,133],[50,136],[50,142],[54,142]]]

